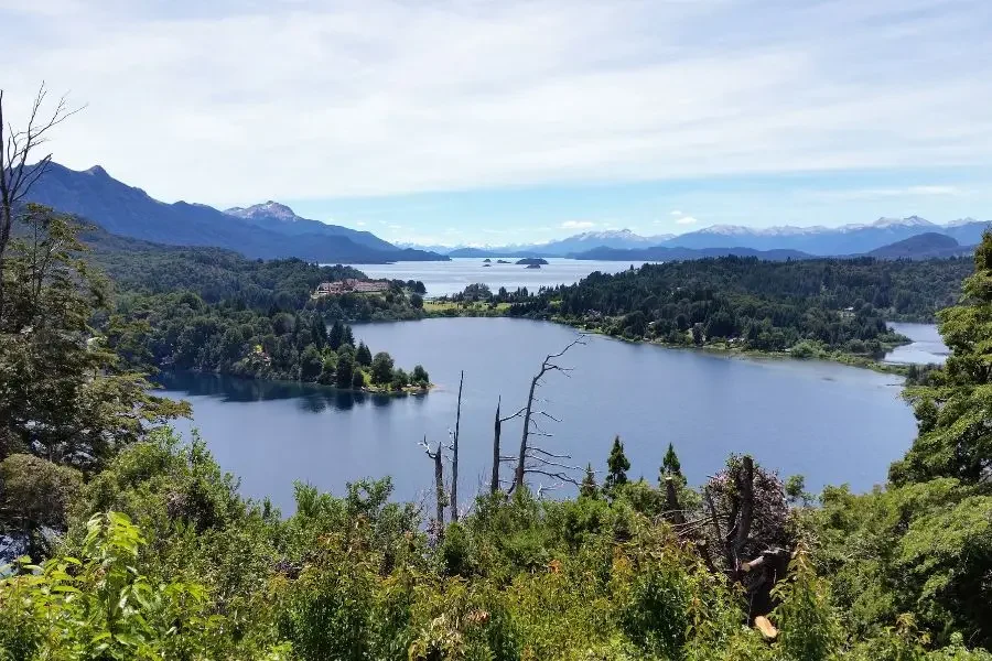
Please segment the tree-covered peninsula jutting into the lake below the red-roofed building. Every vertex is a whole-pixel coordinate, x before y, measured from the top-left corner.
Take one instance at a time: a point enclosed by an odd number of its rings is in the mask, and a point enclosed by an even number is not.
[[[388,353],[356,346],[352,327],[327,326],[316,308],[271,314],[240,300],[208,304],[192,292],[129,297],[111,318],[110,346],[131,365],[209,371],[254,379],[298,380],[364,389],[427,388],[420,365],[407,372]]]

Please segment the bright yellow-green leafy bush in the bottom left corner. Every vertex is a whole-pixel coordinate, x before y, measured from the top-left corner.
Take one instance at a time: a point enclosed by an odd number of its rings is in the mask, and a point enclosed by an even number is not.
[[[0,652],[20,659],[207,658],[225,620],[196,583],[153,583],[136,568],[147,544],[122,513],[86,524],[80,560],[56,556],[0,582],[0,613],[13,624]]]

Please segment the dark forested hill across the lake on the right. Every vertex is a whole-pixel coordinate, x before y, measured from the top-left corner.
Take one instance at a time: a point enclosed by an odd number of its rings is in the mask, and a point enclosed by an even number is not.
[[[801,340],[876,354],[896,342],[886,321],[932,321],[956,303],[970,259],[871,258],[770,262],[723,257],[645,264],[544,290],[510,314],[556,317],[627,338],[733,340],[784,350]]]

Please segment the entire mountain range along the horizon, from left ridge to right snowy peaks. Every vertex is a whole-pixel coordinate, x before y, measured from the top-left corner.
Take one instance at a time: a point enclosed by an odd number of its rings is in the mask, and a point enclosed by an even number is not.
[[[968,252],[968,247],[978,243],[990,225],[973,218],[938,225],[909,216],[840,227],[715,225],[678,236],[639,236],[629,229],[587,231],[544,243],[445,249],[395,246],[368,231],[303,218],[273,201],[226,210],[186,202],[166,204],[115,180],[98,165],[80,172],[52,163],[29,198],[86,218],[122,237],[172,246],[213,246],[249,258],[298,257],[323,263],[443,261],[457,257],[636,261],[727,253],[763,259],[854,254],[923,259]],[[915,237],[924,238],[908,241]]]

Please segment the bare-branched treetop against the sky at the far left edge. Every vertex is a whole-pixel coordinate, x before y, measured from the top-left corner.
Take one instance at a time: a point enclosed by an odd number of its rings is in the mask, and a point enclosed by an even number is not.
[[[43,110],[48,90],[42,83],[28,115],[28,126],[14,129],[3,113],[3,90],[0,89],[0,315],[3,312],[3,254],[10,241],[14,216],[31,187],[47,172],[52,154],[45,154],[31,164],[37,149],[48,141],[48,132],[82,110],[69,109],[65,96],[55,104],[51,113]]]

